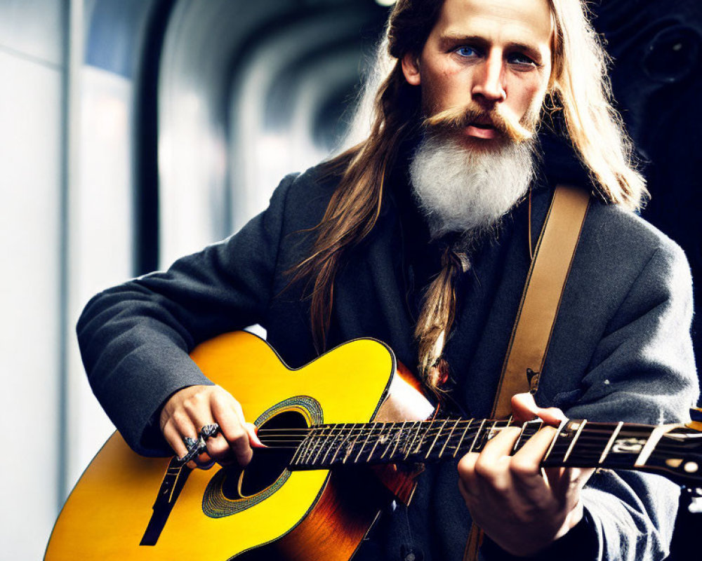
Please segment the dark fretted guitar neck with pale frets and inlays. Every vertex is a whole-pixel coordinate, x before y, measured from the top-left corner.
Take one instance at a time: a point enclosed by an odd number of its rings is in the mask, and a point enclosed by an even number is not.
[[[259,431],[269,447],[296,447],[291,470],[323,469],[360,464],[413,464],[458,459],[480,452],[510,421],[435,419],[404,423],[329,424],[297,431]],[[512,452],[541,428],[529,421]],[[578,466],[661,471],[675,479],[690,478],[698,466],[683,461],[686,445],[697,435],[670,426],[564,421],[559,426],[543,467]],[[694,472],[694,473],[693,473]]]

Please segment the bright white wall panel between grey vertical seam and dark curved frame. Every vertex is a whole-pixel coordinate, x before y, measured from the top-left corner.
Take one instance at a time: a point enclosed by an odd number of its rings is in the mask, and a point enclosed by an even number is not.
[[[79,175],[71,185],[68,489],[114,431],[88,385],[74,325],[88,299],[132,276],[133,252],[133,83],[85,66],[80,91]]]

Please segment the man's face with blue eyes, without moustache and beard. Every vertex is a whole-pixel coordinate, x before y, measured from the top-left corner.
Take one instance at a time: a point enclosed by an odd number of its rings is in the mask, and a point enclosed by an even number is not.
[[[425,116],[472,104],[485,111],[461,126],[468,146],[503,134],[487,116],[533,129],[551,73],[552,21],[546,0],[445,0],[419,57],[405,55],[406,80],[421,86]],[[494,142],[491,142],[494,141]]]

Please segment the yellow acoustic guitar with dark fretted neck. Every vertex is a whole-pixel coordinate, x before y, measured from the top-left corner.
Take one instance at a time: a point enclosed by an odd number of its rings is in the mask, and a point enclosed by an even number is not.
[[[290,370],[263,339],[192,352],[255,419],[251,464],[191,471],[114,433],[59,515],[47,561],[347,561],[388,499],[409,502],[421,464],[479,451],[509,421],[438,419],[384,344],[357,339]],[[702,428],[696,424],[695,428]],[[522,428],[515,450],[541,421]],[[543,466],[637,469],[702,486],[702,433],[564,421]]]

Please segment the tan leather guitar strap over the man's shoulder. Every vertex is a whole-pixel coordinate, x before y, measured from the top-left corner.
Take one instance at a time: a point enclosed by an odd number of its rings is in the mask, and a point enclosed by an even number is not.
[[[511,414],[511,400],[515,393],[534,392],[538,387],[589,204],[590,194],[582,189],[566,185],[555,189],[519,302],[492,407],[492,419]],[[477,561],[482,534],[481,529],[472,525],[464,561]]]

